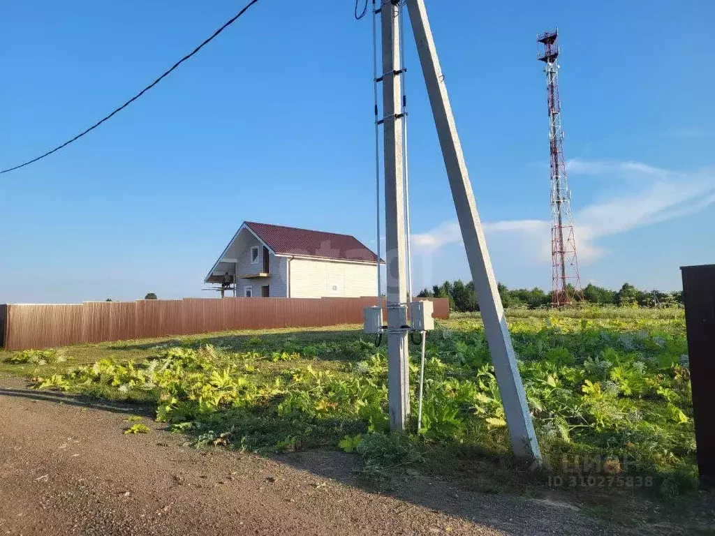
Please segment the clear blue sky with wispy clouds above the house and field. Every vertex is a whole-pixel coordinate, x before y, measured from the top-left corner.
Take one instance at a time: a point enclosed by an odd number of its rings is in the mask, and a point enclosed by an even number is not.
[[[584,283],[678,289],[681,265],[715,262],[715,4],[427,5],[498,279],[551,283],[536,33],[554,26]],[[92,124],[241,6],[6,2],[1,167]],[[352,9],[261,0],[107,124],[0,176],[0,302],[208,294],[244,220],[375,247],[371,23]],[[468,280],[407,43],[415,287]]]

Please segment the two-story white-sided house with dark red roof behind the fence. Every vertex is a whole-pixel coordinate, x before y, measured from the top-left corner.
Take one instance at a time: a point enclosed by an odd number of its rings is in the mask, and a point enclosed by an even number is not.
[[[229,274],[239,297],[360,297],[377,292],[377,270],[377,255],[348,234],[244,222],[204,283]]]

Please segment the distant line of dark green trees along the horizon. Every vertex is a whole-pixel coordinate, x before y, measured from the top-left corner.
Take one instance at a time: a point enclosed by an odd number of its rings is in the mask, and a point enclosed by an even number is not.
[[[510,290],[505,284],[498,284],[499,295],[504,307],[528,307],[538,309],[551,305],[551,292],[544,292],[538,287],[533,289]],[[569,285],[569,295],[576,295]],[[447,298],[450,310],[458,312],[478,311],[477,293],[474,283],[464,283],[457,279],[435,284],[432,289],[424,289],[418,297]],[[581,301],[581,299],[579,299]],[[683,303],[683,292],[661,292],[659,290],[640,290],[630,283],[623,283],[620,290],[611,290],[588,284],[583,288],[583,302],[596,305],[616,305],[618,307],[677,307]]]

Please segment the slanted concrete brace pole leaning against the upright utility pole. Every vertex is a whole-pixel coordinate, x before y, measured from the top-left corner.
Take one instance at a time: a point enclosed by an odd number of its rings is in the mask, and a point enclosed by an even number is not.
[[[511,336],[506,326],[504,309],[497,289],[496,278],[487,251],[486,240],[479,221],[477,206],[472,192],[472,184],[467,172],[462,145],[457,134],[452,106],[450,105],[445,78],[442,74],[440,62],[437,57],[435,41],[427,18],[424,0],[407,0],[410,21],[417,41],[417,50],[422,64],[427,92],[432,106],[432,114],[437,126],[437,134],[442,147],[442,154],[447,168],[452,197],[459,226],[462,231],[464,246],[467,251],[469,267],[472,272],[474,287],[479,300],[479,308],[484,322],[484,331],[489,344],[492,362],[499,383],[501,399],[506,413],[506,420],[511,435],[511,445],[517,456],[530,457],[541,460],[536,434],[533,429],[531,414],[526,402],[526,393],[521,382],[521,375],[516,366],[516,357],[511,345]],[[383,6],[385,9],[385,6]],[[390,46],[385,44],[385,16],[383,16],[383,54]],[[385,57],[385,56],[383,56]],[[387,71],[389,67],[385,68]],[[385,103],[387,103],[387,90],[385,90]],[[390,112],[387,112],[390,113]],[[387,122],[385,122],[387,125]],[[385,129],[385,163],[388,162],[388,129]],[[387,166],[386,166],[387,168]],[[386,174],[386,179],[389,177]],[[392,205],[388,202],[388,209]],[[388,226],[390,219],[388,218]],[[390,229],[390,227],[388,227]],[[388,233],[388,252],[390,251],[390,234]],[[390,257],[388,257],[389,262]],[[388,271],[390,264],[388,264]],[[388,292],[390,292],[390,275],[388,272]],[[401,288],[401,287],[400,287]],[[388,301],[389,301],[388,294]],[[393,359],[390,347],[390,367]],[[389,385],[392,389],[392,384]],[[390,399],[392,400],[392,399]],[[392,406],[390,406],[392,410]]]

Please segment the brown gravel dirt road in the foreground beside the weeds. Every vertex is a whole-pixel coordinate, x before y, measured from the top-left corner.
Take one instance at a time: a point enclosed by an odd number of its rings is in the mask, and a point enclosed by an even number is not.
[[[646,533],[573,505],[475,494],[418,475],[403,479],[397,497],[380,495],[360,487],[351,455],[270,460],[197,450],[150,416],[152,433],[123,435],[129,415],[136,406],[37,392],[0,377],[0,534]]]

